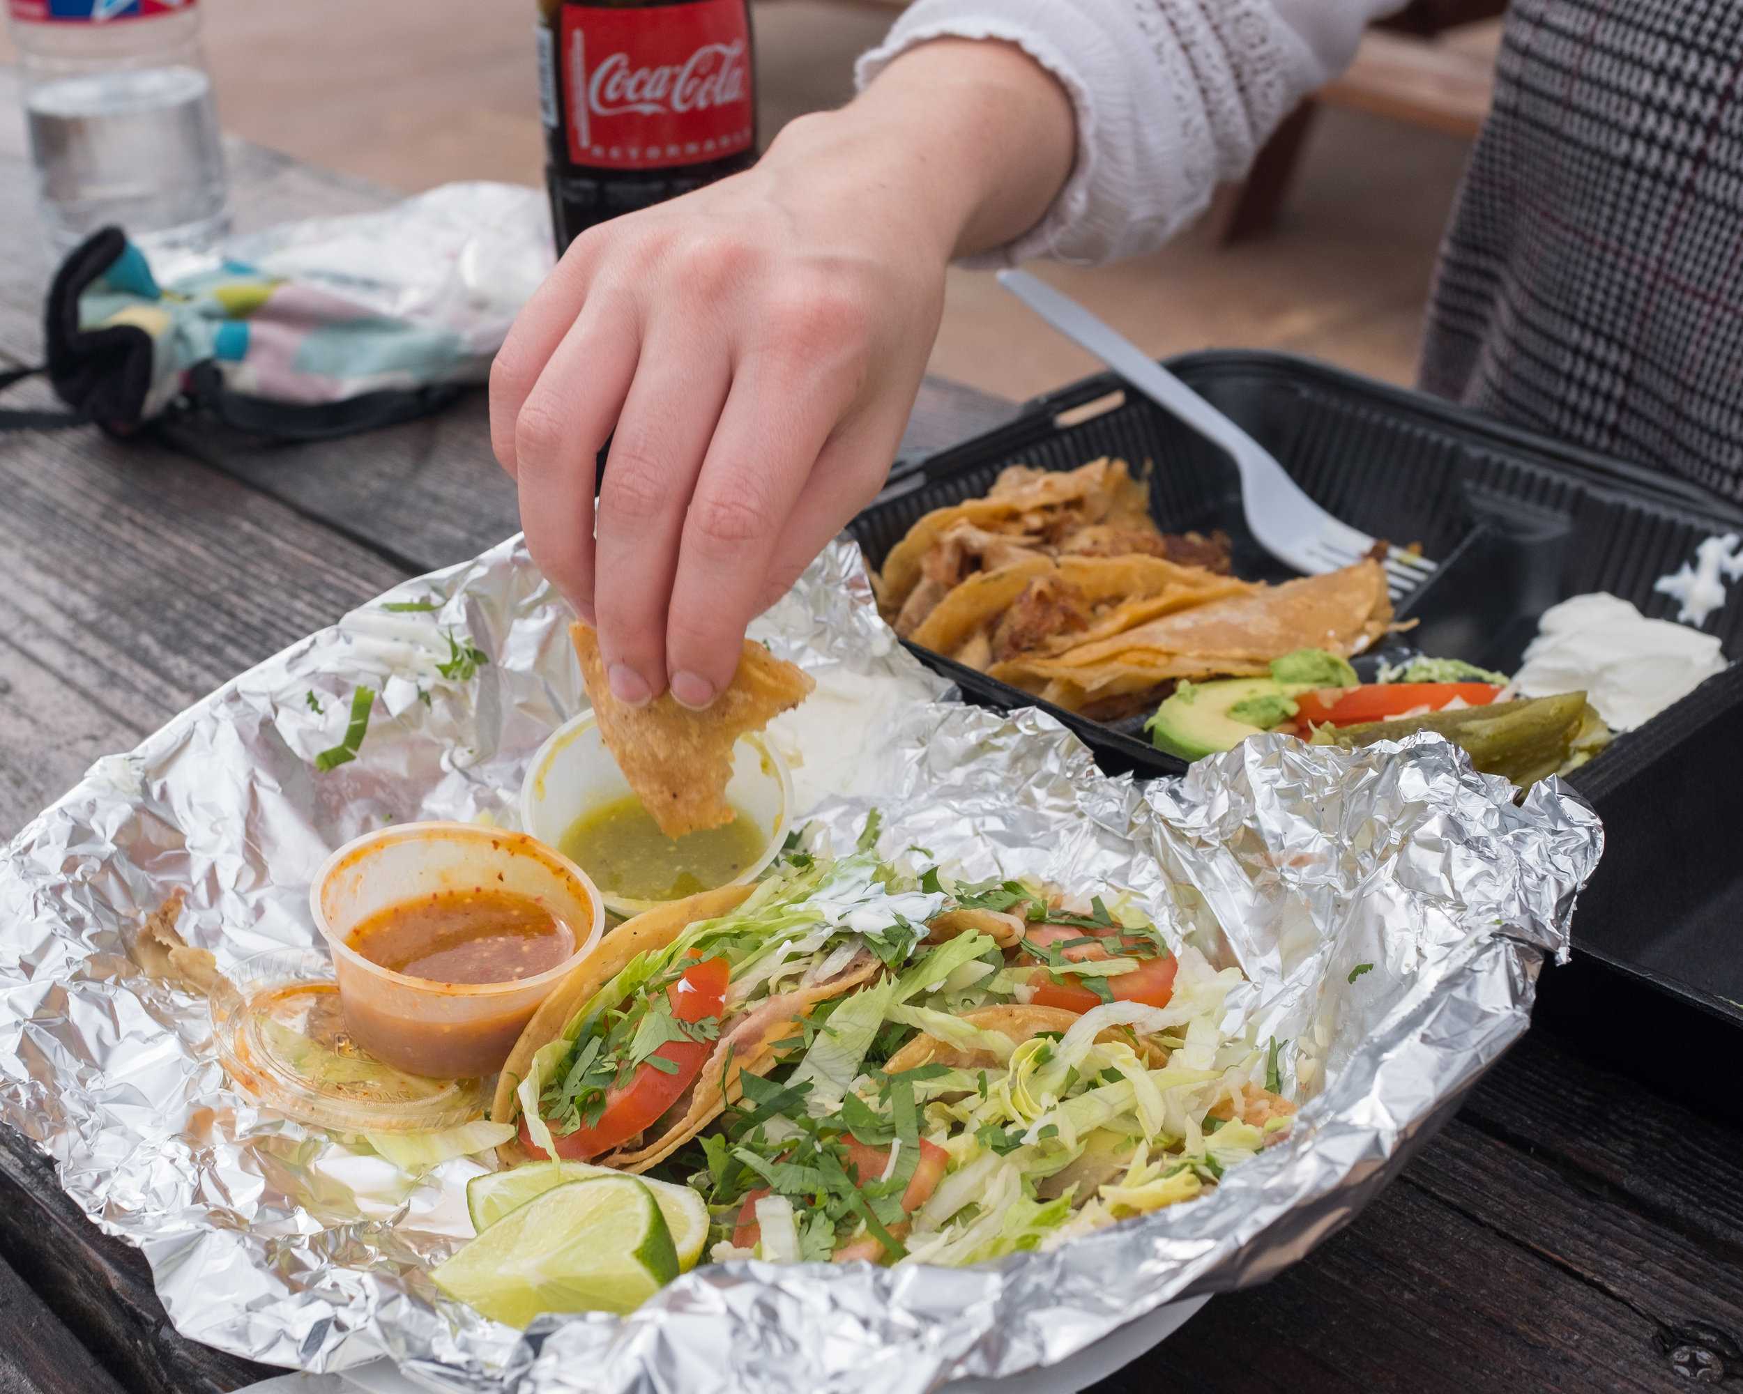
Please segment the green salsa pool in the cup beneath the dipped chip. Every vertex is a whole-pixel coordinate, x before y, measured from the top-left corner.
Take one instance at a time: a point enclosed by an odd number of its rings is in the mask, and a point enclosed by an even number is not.
[[[748,814],[723,828],[669,838],[634,795],[577,817],[558,849],[601,890],[636,901],[675,901],[713,890],[751,866],[769,845]]]

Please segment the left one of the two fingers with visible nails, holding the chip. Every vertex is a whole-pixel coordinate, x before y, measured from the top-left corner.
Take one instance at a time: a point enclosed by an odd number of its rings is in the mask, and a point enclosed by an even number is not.
[[[648,340],[600,486],[594,575],[600,652],[612,692],[645,702],[666,690],[666,606],[685,511],[727,401],[730,366],[694,331]]]

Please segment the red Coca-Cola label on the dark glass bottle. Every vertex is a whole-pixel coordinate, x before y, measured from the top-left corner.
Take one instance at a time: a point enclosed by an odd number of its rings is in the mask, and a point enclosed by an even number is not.
[[[596,169],[661,169],[755,139],[746,0],[655,9],[563,5],[568,155]]]

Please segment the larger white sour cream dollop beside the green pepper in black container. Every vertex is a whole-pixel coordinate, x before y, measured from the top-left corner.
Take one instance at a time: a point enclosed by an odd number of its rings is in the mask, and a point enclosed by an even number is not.
[[[1544,610],[1513,687],[1525,697],[1584,692],[1611,730],[1633,730],[1724,667],[1712,634],[1649,620],[1598,591]]]

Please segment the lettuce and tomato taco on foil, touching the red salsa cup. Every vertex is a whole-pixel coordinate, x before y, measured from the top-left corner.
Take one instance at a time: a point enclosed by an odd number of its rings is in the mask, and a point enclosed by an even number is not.
[[[783,861],[756,887],[659,906],[605,936],[509,1054],[492,1103],[526,1157],[643,1171],[774,1065],[819,1004],[880,976],[941,904],[877,861]]]

